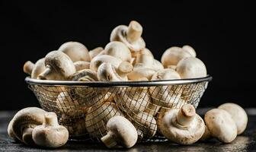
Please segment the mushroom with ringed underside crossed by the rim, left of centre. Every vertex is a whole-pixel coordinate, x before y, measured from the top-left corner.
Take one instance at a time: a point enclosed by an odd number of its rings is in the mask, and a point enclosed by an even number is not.
[[[98,81],[98,76],[95,71],[84,69],[70,75],[69,80],[94,82]],[[98,87],[74,87],[70,90],[72,100],[77,100],[80,106],[92,106],[95,103],[103,102],[105,93],[107,93],[107,90]]]

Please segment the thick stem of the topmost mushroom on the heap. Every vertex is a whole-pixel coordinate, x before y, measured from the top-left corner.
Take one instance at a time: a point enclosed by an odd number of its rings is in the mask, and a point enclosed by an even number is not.
[[[136,21],[131,21],[126,34],[127,40],[133,43],[142,36],[142,26]]]

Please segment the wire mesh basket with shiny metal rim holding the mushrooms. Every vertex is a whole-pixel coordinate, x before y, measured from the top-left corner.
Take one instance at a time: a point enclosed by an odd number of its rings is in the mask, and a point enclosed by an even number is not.
[[[56,112],[70,139],[100,141],[107,121],[124,116],[137,128],[139,141],[165,141],[158,120],[185,103],[197,108],[212,77],[165,81],[46,81],[26,78],[46,111]]]

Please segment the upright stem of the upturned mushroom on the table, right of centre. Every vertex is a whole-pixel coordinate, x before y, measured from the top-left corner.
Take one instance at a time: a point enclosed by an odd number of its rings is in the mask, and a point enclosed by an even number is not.
[[[177,122],[179,125],[188,126],[190,122],[194,120],[196,116],[196,109],[190,104],[186,104],[181,107],[177,115]]]

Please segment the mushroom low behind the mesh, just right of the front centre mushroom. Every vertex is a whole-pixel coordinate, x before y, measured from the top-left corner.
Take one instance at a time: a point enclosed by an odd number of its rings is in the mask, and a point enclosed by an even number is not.
[[[147,112],[129,113],[127,114],[130,121],[137,128],[139,138],[152,138],[157,131],[157,124],[152,115]]]

